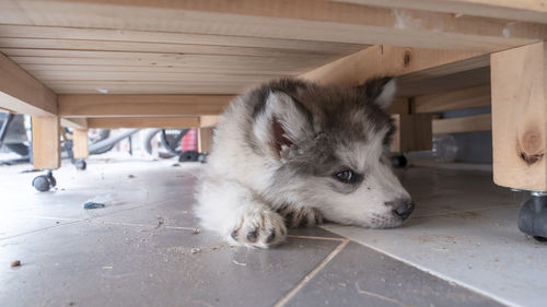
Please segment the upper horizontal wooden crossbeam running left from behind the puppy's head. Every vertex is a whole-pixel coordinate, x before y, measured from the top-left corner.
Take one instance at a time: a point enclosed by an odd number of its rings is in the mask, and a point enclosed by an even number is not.
[[[218,115],[231,95],[59,95],[63,117],[176,117]]]

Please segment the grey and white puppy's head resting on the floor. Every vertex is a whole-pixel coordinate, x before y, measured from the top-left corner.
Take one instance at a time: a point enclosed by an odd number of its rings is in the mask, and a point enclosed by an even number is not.
[[[276,169],[265,197],[363,227],[399,226],[414,204],[385,156],[395,81],[341,90],[295,80],[256,92],[251,139]]]

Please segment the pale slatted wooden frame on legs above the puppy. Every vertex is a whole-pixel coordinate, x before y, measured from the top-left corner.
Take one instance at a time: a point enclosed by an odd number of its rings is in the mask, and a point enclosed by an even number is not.
[[[34,167],[60,166],[60,127],[210,127],[231,97],[300,76],[399,78],[392,150],[492,130],[498,185],[547,190],[545,0],[0,1],[0,109],[33,116]],[[490,106],[492,115],[435,113]]]

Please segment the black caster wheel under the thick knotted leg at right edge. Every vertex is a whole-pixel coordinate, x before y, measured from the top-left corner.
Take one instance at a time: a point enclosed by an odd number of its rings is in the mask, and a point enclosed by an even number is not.
[[[547,241],[547,193],[532,192],[519,211],[519,229],[537,241]]]

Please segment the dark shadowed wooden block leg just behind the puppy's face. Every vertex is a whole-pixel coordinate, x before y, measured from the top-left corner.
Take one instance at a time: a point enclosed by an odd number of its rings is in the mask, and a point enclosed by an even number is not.
[[[395,114],[392,115],[392,118],[396,130],[392,137],[391,152],[404,153],[431,150],[431,115]]]

